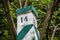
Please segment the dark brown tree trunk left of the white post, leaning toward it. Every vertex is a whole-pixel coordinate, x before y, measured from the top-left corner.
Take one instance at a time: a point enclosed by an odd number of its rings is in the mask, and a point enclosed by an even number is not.
[[[13,40],[16,40],[16,28],[9,8],[9,0],[3,0],[3,6],[9,22]]]

